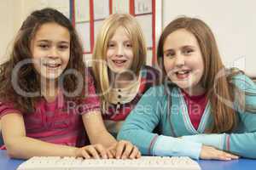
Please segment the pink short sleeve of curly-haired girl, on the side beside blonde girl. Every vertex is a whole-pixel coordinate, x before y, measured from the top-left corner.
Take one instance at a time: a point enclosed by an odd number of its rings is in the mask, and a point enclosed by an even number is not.
[[[101,102],[96,94],[94,79],[90,72],[86,74],[85,83],[85,98],[82,102],[82,107],[80,107],[79,110],[82,115],[91,111],[101,110]]]

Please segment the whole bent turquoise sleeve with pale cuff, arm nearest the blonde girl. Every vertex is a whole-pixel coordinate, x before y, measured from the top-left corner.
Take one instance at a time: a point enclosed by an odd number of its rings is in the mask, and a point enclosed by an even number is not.
[[[150,88],[127,116],[117,139],[131,141],[143,155],[190,156],[198,159],[201,144],[152,133],[166,114],[166,102],[162,88]]]

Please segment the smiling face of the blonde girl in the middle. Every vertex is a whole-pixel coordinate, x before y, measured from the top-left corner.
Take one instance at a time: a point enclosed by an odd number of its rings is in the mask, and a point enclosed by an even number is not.
[[[114,73],[131,69],[133,51],[131,40],[124,27],[119,26],[108,42],[107,63]]]

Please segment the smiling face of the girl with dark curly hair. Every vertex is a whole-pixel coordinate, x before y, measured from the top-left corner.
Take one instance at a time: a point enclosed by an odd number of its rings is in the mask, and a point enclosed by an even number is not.
[[[45,23],[32,39],[31,52],[33,65],[41,77],[60,77],[70,57],[69,31],[56,23]]]

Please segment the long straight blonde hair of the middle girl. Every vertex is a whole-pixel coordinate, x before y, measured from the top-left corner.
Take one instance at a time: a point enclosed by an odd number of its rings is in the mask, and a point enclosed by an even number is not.
[[[92,54],[92,69],[96,79],[96,89],[97,93],[101,94],[103,108],[106,108],[104,105],[106,102],[108,103],[108,90],[110,88],[110,72],[106,63],[108,42],[119,26],[122,26],[125,29],[127,36],[131,39],[134,55],[131,71],[136,75],[139,74],[139,71],[142,69],[143,65],[145,65],[147,56],[143,31],[133,16],[130,14],[112,14],[104,21],[102,28],[97,35],[96,44]]]

